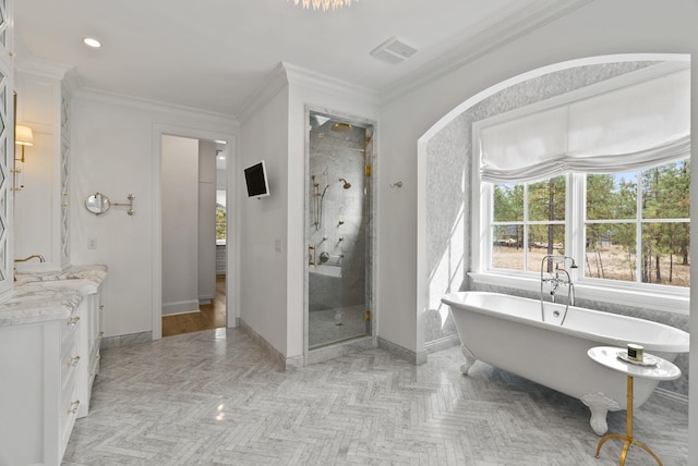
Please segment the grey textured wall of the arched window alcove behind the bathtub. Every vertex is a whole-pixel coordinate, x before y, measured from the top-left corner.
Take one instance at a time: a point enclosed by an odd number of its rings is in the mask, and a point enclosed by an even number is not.
[[[424,332],[426,344],[456,334],[450,314],[440,302],[444,293],[479,290],[535,299],[540,297],[535,293],[526,294],[518,290],[476,285],[467,278],[472,256],[472,123],[655,63],[623,62],[579,66],[529,79],[471,107],[430,140],[426,163],[426,250],[430,273],[430,308]],[[578,299],[578,305],[640,317],[688,331],[688,316],[583,299]],[[676,381],[662,382],[660,387],[688,395],[688,355],[679,355],[675,363],[684,376]]]

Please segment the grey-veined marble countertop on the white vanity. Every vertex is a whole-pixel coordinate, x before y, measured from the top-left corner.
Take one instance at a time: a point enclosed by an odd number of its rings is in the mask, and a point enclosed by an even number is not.
[[[17,274],[12,295],[0,304],[0,327],[65,319],[106,277],[106,266]]]

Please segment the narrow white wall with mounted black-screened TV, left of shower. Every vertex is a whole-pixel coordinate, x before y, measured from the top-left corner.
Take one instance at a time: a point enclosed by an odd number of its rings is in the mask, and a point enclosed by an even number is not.
[[[240,127],[240,318],[281,355],[287,353],[288,87]],[[242,170],[265,161],[270,196],[248,197]],[[228,207],[230,211],[230,207]],[[232,235],[228,235],[229,240]],[[231,242],[228,241],[228,247]]]

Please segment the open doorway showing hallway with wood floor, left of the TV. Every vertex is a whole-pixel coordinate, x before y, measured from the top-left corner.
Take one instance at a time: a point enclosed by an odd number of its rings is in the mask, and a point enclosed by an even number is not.
[[[161,136],[163,336],[226,327],[225,144]]]

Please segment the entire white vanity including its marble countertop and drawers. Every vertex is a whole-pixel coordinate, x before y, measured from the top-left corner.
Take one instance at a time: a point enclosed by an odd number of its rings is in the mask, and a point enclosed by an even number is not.
[[[59,466],[99,372],[104,275],[15,287],[0,304],[0,466]]]

